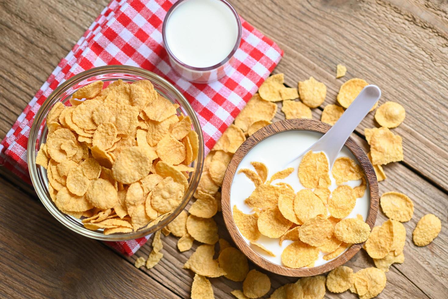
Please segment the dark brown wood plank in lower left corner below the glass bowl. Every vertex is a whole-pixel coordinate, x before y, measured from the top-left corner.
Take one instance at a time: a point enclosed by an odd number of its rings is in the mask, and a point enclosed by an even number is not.
[[[0,297],[177,298],[102,243],[61,226],[0,177]]]

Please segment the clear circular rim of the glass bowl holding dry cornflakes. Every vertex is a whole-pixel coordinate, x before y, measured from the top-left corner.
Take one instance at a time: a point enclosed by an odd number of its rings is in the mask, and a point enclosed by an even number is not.
[[[151,225],[149,227],[146,227],[146,229],[140,231],[132,231],[130,233],[121,233],[119,235],[114,234],[104,235],[103,231],[88,230],[84,226],[80,226],[79,222],[75,222],[69,219],[69,217],[67,217],[66,214],[62,213],[59,209],[57,209],[52,199],[48,196],[47,193],[48,186],[47,184],[45,184],[45,182],[42,182],[42,180],[40,179],[38,166],[35,164],[35,158],[36,158],[35,151],[36,148],[38,148],[36,147],[36,145],[40,144],[40,142],[38,143],[40,126],[44,121],[45,117],[47,116],[47,112],[49,111],[50,107],[52,107],[52,105],[56,103],[56,99],[59,100],[60,96],[73,85],[78,84],[79,82],[86,80],[90,77],[105,75],[108,73],[123,73],[123,74],[140,76],[166,87],[182,104],[181,108],[183,108],[187,112],[187,115],[190,116],[194,127],[194,131],[198,133],[198,140],[199,140],[198,158],[195,160],[194,164],[195,170],[193,172],[193,175],[191,176],[189,187],[185,192],[180,205],[178,205],[177,208],[174,209],[171,214],[166,216],[160,222]],[[41,136],[39,140],[42,140],[42,138],[43,136]],[[202,128],[199,124],[196,112],[193,110],[193,108],[191,107],[190,103],[187,101],[185,96],[181,94],[181,92],[177,90],[177,88],[174,85],[172,85],[170,82],[160,77],[159,75],[142,68],[137,68],[129,65],[106,65],[91,68],[77,75],[74,75],[73,77],[70,77],[66,81],[62,82],[58,87],[56,87],[55,90],[53,90],[53,92],[43,102],[42,106],[39,108],[34,117],[33,124],[30,128],[26,157],[27,157],[28,169],[30,172],[30,179],[31,183],[33,184],[34,190],[36,191],[42,204],[45,206],[48,212],[52,214],[54,218],[56,218],[60,223],[62,223],[65,227],[69,228],[71,231],[74,231],[80,235],[86,236],[91,239],[97,239],[102,241],[125,241],[131,239],[138,239],[146,235],[150,235],[155,231],[158,231],[159,229],[167,225],[169,222],[171,222],[174,218],[176,218],[177,215],[180,214],[183,209],[185,209],[185,206],[190,202],[191,198],[193,197],[193,193],[198,186],[199,179],[202,174],[202,165],[204,158],[204,142],[202,137]]]

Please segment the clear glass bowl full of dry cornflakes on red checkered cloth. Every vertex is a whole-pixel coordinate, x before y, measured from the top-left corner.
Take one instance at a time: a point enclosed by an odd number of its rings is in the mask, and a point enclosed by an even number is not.
[[[92,239],[149,235],[185,208],[204,145],[190,103],[164,78],[108,65],[62,82],[28,140],[31,182],[45,208]]]

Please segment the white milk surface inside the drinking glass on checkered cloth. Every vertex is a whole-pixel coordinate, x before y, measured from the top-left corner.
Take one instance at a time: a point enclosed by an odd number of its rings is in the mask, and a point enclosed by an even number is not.
[[[166,22],[165,43],[177,60],[191,67],[219,64],[237,42],[235,15],[219,0],[186,0]]]

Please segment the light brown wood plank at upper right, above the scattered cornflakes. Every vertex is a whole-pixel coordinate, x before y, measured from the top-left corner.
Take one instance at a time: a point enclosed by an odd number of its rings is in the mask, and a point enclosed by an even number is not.
[[[235,4],[243,17],[284,49],[275,72],[285,73],[288,85],[297,86],[297,81],[310,76],[327,85],[322,107],[335,103],[340,85],[353,77],[377,84],[383,91],[380,103],[401,103],[406,120],[394,132],[403,137],[406,165],[448,190],[446,2],[264,0]],[[431,9],[422,13],[422,6]],[[341,79],[335,78],[338,63],[348,68]],[[373,116],[370,113],[357,131],[363,134],[364,128],[378,126]]]

